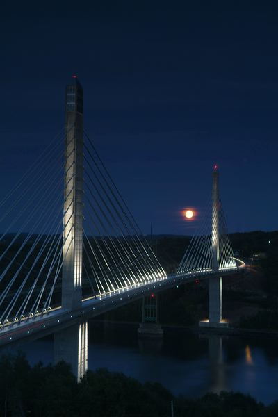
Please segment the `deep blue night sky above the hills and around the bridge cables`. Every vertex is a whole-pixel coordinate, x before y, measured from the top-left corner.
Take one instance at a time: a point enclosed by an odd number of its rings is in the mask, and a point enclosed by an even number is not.
[[[76,73],[85,129],[144,233],[191,233],[179,211],[202,214],[214,163],[229,231],[278,229],[277,11],[60,3],[1,10],[1,198],[63,128]]]

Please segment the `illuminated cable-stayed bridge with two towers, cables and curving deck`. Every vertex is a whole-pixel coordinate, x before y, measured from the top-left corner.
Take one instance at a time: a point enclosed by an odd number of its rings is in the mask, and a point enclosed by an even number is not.
[[[167,274],[83,129],[83,89],[66,89],[65,132],[0,202],[0,345],[40,336],[151,293],[208,279],[208,325],[222,322],[222,277],[240,273],[219,195]]]

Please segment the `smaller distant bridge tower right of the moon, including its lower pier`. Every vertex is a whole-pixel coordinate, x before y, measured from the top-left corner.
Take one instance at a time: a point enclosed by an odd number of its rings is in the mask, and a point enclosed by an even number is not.
[[[212,190],[212,218],[211,218],[211,243],[212,243],[212,269],[219,270],[219,172],[218,166],[213,167]],[[208,280],[208,322],[209,325],[219,325],[222,320],[222,277],[211,277]]]

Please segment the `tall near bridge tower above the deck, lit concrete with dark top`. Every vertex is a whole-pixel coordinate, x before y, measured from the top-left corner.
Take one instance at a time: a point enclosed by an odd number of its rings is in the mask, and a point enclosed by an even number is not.
[[[82,300],[83,241],[83,88],[76,76],[66,87],[65,199],[63,217],[62,308],[78,309]]]

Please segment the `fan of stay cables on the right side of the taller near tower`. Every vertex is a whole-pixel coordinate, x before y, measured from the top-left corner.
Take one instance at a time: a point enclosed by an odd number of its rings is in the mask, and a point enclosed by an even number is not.
[[[165,278],[92,141],[84,137],[83,294]]]

